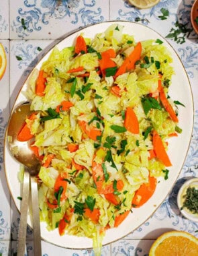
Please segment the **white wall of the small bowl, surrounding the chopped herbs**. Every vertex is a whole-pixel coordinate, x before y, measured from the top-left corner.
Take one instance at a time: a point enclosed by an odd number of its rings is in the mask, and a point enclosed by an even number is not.
[[[181,211],[181,214],[185,216],[185,218],[192,220],[193,222],[198,222],[198,214],[192,214],[187,207],[184,207],[183,210],[181,210],[181,207],[183,206],[183,195],[186,194],[188,187],[195,187],[198,189],[198,178],[192,178],[188,181],[186,181],[181,188],[179,189],[179,193],[177,195],[177,205],[179,207],[179,210]]]

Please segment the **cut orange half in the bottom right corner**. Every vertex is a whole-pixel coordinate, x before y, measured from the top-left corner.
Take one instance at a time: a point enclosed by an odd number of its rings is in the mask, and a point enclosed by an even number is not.
[[[184,231],[170,231],[159,236],[150,248],[149,256],[198,255],[198,239]]]

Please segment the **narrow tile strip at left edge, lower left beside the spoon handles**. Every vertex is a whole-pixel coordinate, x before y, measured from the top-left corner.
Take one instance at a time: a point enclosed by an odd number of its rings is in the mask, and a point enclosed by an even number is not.
[[[0,140],[0,241],[10,239],[10,194],[3,166],[3,140]],[[1,251],[0,251],[1,252]]]

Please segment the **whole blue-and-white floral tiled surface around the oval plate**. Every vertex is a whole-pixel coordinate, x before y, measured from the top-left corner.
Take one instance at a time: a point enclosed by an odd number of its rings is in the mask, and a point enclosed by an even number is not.
[[[189,152],[179,179],[162,205],[137,230],[103,247],[103,256],[147,256],[154,239],[168,230],[198,237],[198,224],[181,216],[177,193],[198,169],[198,35],[189,22],[193,0],[161,0],[150,9],[136,9],[127,0],[7,0],[0,1],[0,42],[7,69],[0,80],[0,256],[14,256],[20,216],[10,198],[3,167],[3,139],[9,111],[21,85],[42,56],[62,37],[78,28],[107,20],[128,20],[162,34],[183,63],[194,99],[195,122]],[[26,255],[34,255],[33,230],[27,228]],[[94,256],[92,250],[70,250],[42,241],[42,255]]]

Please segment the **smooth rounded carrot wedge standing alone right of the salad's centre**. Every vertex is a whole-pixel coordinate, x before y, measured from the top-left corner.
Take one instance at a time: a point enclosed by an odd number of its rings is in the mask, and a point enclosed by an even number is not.
[[[136,116],[136,113],[134,112],[133,108],[128,107],[126,109],[123,125],[131,133],[134,133],[134,134],[139,133],[138,117]]]

